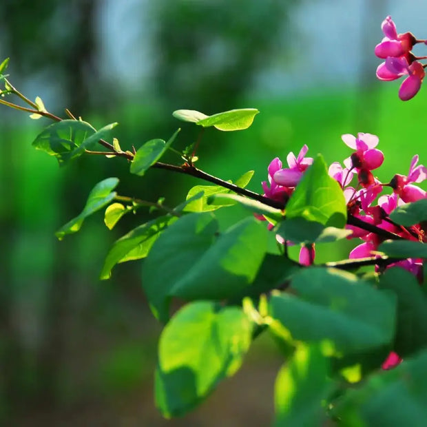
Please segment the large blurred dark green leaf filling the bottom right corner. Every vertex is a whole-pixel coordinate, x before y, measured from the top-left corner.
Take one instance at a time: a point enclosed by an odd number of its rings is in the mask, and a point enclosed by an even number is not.
[[[427,419],[427,351],[372,375],[338,399],[333,414],[342,426],[423,427]]]

